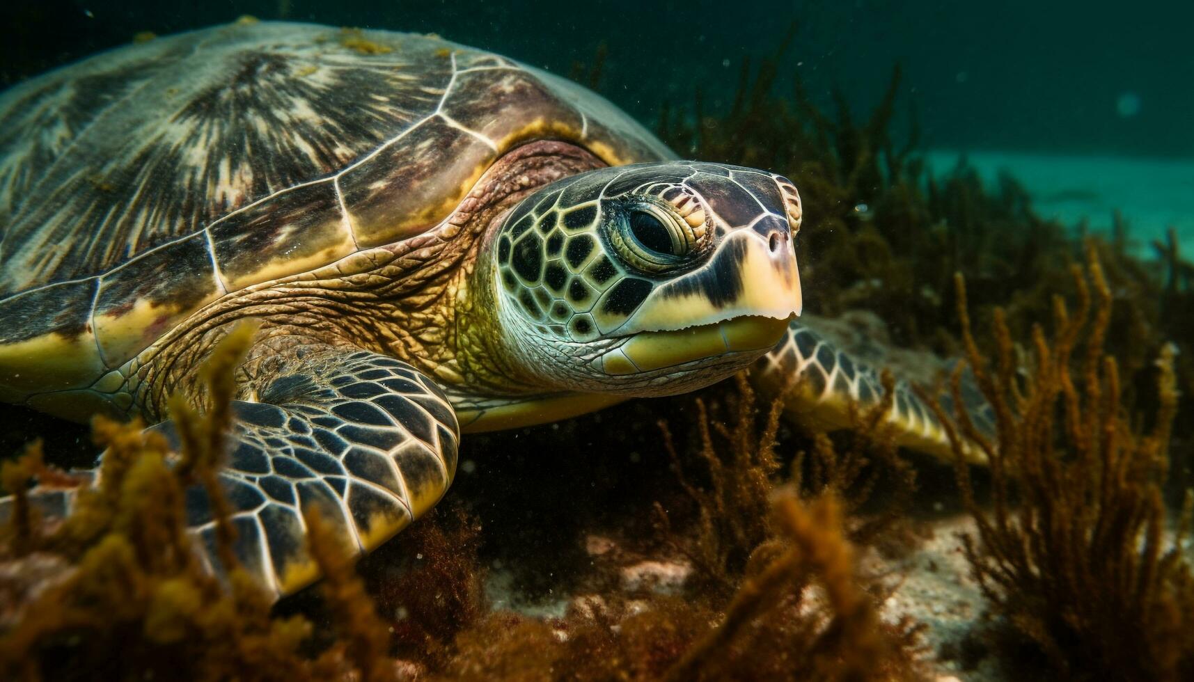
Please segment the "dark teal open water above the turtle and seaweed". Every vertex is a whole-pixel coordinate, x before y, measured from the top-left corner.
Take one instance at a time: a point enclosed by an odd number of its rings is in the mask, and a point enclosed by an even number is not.
[[[275,0],[0,4],[0,84],[131,41],[253,14],[437,32],[567,75],[604,44],[602,91],[648,124],[663,102],[732,98],[745,57],[774,53],[827,100],[857,107],[905,69],[937,147],[1194,155],[1194,2],[726,0],[480,2]],[[790,80],[781,79],[784,85]]]

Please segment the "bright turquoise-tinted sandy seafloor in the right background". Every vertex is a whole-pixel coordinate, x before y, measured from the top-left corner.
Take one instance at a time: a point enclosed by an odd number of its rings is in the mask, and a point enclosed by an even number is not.
[[[1138,256],[1155,257],[1151,241],[1164,241],[1170,227],[1177,231],[1182,252],[1194,252],[1194,159],[934,149],[925,160],[941,174],[960,155],[989,185],[1001,172],[1010,173],[1032,195],[1041,217],[1066,226],[1085,220],[1101,232],[1119,210]]]

